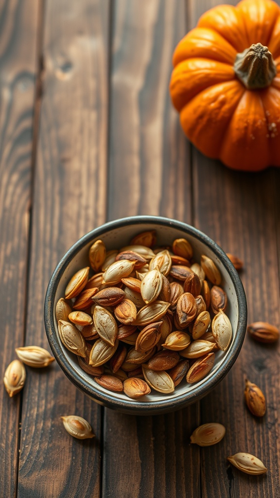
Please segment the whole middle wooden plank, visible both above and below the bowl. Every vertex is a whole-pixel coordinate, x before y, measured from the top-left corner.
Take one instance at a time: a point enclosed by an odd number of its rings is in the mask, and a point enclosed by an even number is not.
[[[191,220],[189,149],[168,93],[172,51],[184,32],[180,0],[115,2],[110,219]],[[198,405],[152,417],[105,409],[103,496],[199,497],[199,472],[190,472],[199,469],[199,452],[183,443],[198,417]]]

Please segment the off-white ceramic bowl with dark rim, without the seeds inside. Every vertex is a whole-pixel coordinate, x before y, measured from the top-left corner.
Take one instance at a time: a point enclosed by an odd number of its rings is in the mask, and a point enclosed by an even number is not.
[[[106,249],[120,249],[130,244],[137,234],[156,230],[157,245],[170,245],[174,239],[185,238],[193,247],[193,259],[200,261],[201,254],[210,257],[220,270],[221,286],[228,296],[226,314],[232,324],[233,339],[227,351],[218,351],[211,372],[196,383],[185,379],[170,394],[152,390],[139,399],[132,399],[124,392],[112,392],[97,384],[93,377],[78,364],[76,355],[68,351],[59,338],[55,319],[57,301],[64,297],[65,288],[76,271],[89,266],[88,251],[99,240]],[[178,410],[198,401],[215,387],[229,372],[236,361],[245,337],[247,324],[246,296],[242,282],[225,252],[207,235],[180,221],[157,216],[135,216],[106,223],[82,237],[62,257],[50,279],[44,306],[47,338],[59,366],[85,394],[97,403],[124,413],[152,415]]]

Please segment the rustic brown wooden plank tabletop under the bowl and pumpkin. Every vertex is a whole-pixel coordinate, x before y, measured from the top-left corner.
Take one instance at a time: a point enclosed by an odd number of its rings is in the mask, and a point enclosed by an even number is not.
[[[244,260],[249,322],[280,325],[280,170],[235,172],[183,135],[168,84],[172,51],[216,0],[9,0],[0,6],[0,316],[2,376],[14,348],[49,349],[43,305],[67,249],[129,215],[182,220]],[[234,2],[235,3],[235,2]],[[280,496],[279,350],[246,337],[227,377],[197,404],[161,416],[104,409],[57,364],[1,385],[0,497]],[[248,376],[267,414],[244,405]],[[79,441],[60,416],[90,421]],[[200,423],[226,426],[190,445]],[[257,455],[266,476],[231,467]]]

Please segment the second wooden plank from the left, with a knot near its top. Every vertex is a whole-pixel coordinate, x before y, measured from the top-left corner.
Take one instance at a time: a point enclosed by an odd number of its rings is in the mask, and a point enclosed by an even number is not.
[[[109,1],[45,5],[43,98],[32,205],[26,345],[48,348],[47,283],[64,252],[105,221]],[[18,497],[99,497],[101,408],[58,365],[28,369],[22,407]],[[67,434],[77,414],[96,438]]]

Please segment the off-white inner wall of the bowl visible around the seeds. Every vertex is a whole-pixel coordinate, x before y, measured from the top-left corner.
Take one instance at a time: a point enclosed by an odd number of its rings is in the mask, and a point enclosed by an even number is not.
[[[221,275],[222,275],[222,284],[221,287],[226,291],[227,296],[228,296],[228,305],[226,309],[226,314],[229,317],[231,324],[232,324],[232,331],[233,331],[233,340],[231,342],[231,345],[229,346],[228,350],[226,352],[218,351],[215,354],[215,364],[214,368],[211,370],[211,372],[204,377],[202,380],[199,382],[196,382],[194,384],[188,384],[186,381],[183,379],[180,384],[175,388],[175,391],[171,394],[161,394],[160,392],[156,392],[154,390],[151,391],[149,395],[143,396],[140,398],[138,401],[142,401],[143,403],[145,401],[153,402],[153,401],[159,401],[159,400],[166,400],[167,398],[174,398],[178,397],[179,395],[182,395],[183,393],[192,391],[194,388],[197,388],[199,385],[204,383],[208,378],[210,378],[213,373],[217,371],[217,369],[220,367],[220,365],[226,360],[227,356],[230,354],[231,349],[233,347],[234,343],[234,338],[236,336],[236,330],[237,330],[237,325],[238,325],[238,301],[237,301],[237,295],[236,291],[234,288],[234,285],[232,283],[230,274],[228,273],[227,269],[224,267],[224,265],[221,263],[219,258],[216,256],[216,254],[203,242],[200,240],[196,239],[195,237],[186,234],[182,230],[178,230],[177,228],[174,228],[172,226],[163,226],[163,225],[155,225],[152,223],[143,223],[143,224],[138,224],[138,225],[131,225],[131,226],[124,226],[120,228],[116,228],[113,230],[110,230],[110,232],[104,233],[102,237],[96,237],[93,239],[89,244],[87,244],[83,249],[80,250],[78,254],[75,255],[75,257],[72,259],[72,261],[68,264],[67,268],[65,269],[55,295],[55,303],[54,303],[54,310],[57,301],[61,298],[64,297],[65,295],[65,288],[72,277],[72,275],[78,271],[80,268],[83,268],[85,266],[89,266],[89,260],[88,260],[88,251],[90,246],[98,239],[102,239],[104,244],[106,245],[106,249],[120,249],[126,245],[130,244],[131,239],[139,234],[140,232],[146,231],[146,230],[156,230],[157,233],[157,245],[171,245],[174,239],[178,238],[185,238],[189,241],[189,243],[193,247],[194,251],[194,256],[193,259],[196,262],[200,262],[200,256],[201,254],[205,254],[206,256],[209,256],[217,267],[219,268]],[[61,345],[61,349],[63,351],[64,356],[67,358],[68,362],[71,364],[73,369],[82,377],[86,382],[88,382],[89,385],[93,386],[95,389],[101,391],[104,394],[110,394],[110,396],[118,398],[120,400],[126,400],[126,402],[131,401],[131,403],[134,403],[134,400],[128,398],[123,393],[117,393],[117,392],[112,392],[112,391],[107,391],[103,387],[101,387],[99,384],[97,384],[93,377],[86,372],[84,372],[78,364],[77,357],[70,353],[61,343],[58,335],[58,330],[57,330],[57,325],[56,325],[56,319],[54,316],[54,323],[55,323],[55,330],[57,334],[58,341]]]

